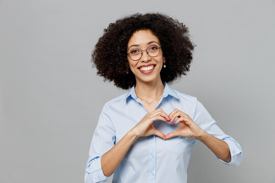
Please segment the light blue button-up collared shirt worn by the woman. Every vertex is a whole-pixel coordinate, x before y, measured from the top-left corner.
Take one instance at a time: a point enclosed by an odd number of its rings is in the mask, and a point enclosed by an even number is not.
[[[238,166],[242,160],[240,144],[217,126],[216,121],[196,97],[179,93],[166,82],[163,84],[165,87],[162,98],[155,109],[161,108],[169,115],[177,108],[188,114],[203,130],[228,144],[231,162],[226,163],[216,157],[217,160],[226,165]],[[147,113],[142,101],[136,97],[134,86],[126,94],[105,103],[91,142],[85,171],[86,183],[107,181],[109,177],[103,174],[101,156],[118,143]],[[180,123],[175,125],[155,120],[153,124],[166,135],[177,130]],[[155,135],[139,137],[115,170],[113,182],[187,182],[186,170],[195,141],[195,138],[181,136],[167,140]]]

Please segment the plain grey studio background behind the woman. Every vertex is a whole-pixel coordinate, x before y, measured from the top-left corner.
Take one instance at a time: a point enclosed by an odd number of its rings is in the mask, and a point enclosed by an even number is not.
[[[196,96],[243,149],[240,166],[230,167],[197,142],[188,182],[275,182],[274,7],[275,1],[0,1],[0,182],[84,182],[101,109],[127,92],[96,76],[90,54],[109,23],[135,12],[167,13],[189,27],[194,61],[171,87]]]

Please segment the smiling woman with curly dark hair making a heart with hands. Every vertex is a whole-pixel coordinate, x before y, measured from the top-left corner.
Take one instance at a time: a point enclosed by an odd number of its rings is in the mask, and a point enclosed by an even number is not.
[[[134,14],[104,29],[92,54],[97,74],[131,88],[103,106],[85,182],[105,182],[113,173],[113,182],[186,182],[197,139],[219,161],[240,164],[239,143],[196,97],[168,85],[189,71],[193,49],[187,27],[159,13]]]

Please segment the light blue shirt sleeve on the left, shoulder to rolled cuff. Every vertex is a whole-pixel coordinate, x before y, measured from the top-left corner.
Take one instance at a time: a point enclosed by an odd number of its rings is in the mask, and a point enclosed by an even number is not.
[[[85,183],[103,183],[109,178],[103,174],[101,168],[102,155],[111,149],[116,141],[116,131],[108,114],[108,106],[105,104],[92,138],[85,170]]]

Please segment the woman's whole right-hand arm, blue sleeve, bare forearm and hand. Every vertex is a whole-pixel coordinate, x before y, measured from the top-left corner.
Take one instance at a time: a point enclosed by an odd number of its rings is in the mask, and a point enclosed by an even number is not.
[[[226,165],[238,166],[242,160],[240,144],[229,135],[226,135],[216,124],[216,121],[197,100],[193,119],[175,109],[169,114],[170,122],[178,117],[175,124],[180,123],[179,129],[166,135],[196,138],[203,142],[215,154],[218,160]]]

